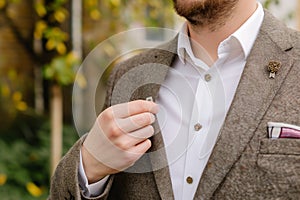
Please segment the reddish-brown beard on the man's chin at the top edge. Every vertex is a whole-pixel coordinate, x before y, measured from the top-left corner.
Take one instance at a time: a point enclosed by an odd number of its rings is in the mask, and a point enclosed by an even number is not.
[[[173,0],[178,15],[194,27],[215,31],[230,18],[239,0]]]

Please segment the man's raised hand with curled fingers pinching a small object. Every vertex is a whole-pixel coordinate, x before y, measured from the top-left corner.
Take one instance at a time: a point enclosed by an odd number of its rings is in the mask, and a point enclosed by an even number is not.
[[[83,146],[89,183],[132,166],[150,147],[157,104],[137,100],[107,108],[97,118]]]

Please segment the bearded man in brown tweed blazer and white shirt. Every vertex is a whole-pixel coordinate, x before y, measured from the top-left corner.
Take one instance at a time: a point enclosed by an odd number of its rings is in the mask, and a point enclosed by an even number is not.
[[[267,124],[300,125],[300,34],[255,0],[174,6],[180,34],[116,67],[50,199],[299,198],[300,140]]]

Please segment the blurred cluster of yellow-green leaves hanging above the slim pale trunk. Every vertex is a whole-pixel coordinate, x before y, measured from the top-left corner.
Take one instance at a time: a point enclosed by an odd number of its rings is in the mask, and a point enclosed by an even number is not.
[[[90,0],[88,0],[90,1]],[[44,52],[52,52],[55,56],[44,64],[44,77],[55,84],[69,85],[75,78],[79,58],[67,48],[70,43],[69,31],[63,26],[68,22],[70,11],[67,10],[69,0],[43,1],[34,0],[37,15],[34,39],[43,44]]]

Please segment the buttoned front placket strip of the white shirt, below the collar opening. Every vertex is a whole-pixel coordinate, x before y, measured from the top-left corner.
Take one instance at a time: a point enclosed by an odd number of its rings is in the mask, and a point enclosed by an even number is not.
[[[202,171],[205,167],[205,158],[200,158],[200,148],[206,141],[211,119],[211,99],[205,74],[199,79],[195,101],[193,104],[191,120],[188,130],[188,146],[186,151],[185,171],[183,177],[183,196],[182,199],[193,199],[196,187],[198,186]],[[211,74],[210,74],[211,75]],[[194,97],[191,97],[194,98]],[[206,150],[204,150],[206,151]],[[193,163],[193,164],[190,164]],[[201,173],[199,173],[201,172]]]

